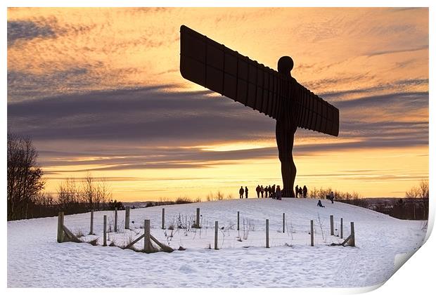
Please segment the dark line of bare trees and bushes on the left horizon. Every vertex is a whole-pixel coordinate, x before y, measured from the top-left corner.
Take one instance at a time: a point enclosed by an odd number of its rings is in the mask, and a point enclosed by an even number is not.
[[[124,209],[112,200],[104,178],[88,173],[77,181],[68,178],[60,183],[56,194],[43,192],[44,171],[37,163],[38,152],[30,138],[8,132],[7,207],[8,221],[56,216],[58,211],[77,214],[94,210]]]

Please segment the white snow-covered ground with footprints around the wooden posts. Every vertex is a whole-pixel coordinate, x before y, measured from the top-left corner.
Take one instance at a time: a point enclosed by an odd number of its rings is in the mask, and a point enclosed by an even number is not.
[[[124,211],[65,216],[65,225],[87,243],[56,242],[57,217],[8,222],[8,287],[368,287],[385,282],[394,271],[396,254],[416,251],[425,232],[421,221],[401,221],[357,206],[316,199],[233,199],[131,210],[131,228],[124,230]],[[189,225],[200,208],[201,229]],[[236,230],[237,211],[241,227]],[[282,232],[283,213],[286,228]],[[103,215],[108,216],[108,244],[127,244],[143,233],[150,219],[151,234],[160,242],[185,251],[145,254],[119,247],[102,247]],[[344,237],[354,221],[357,247],[333,247],[340,218]],[[265,219],[269,218],[269,249],[265,248]],[[310,247],[310,220],[315,247]],[[219,221],[219,250],[214,247],[214,221]],[[244,225],[245,223],[245,225]],[[188,225],[188,228],[184,228]],[[182,228],[179,228],[182,227]],[[322,227],[322,230],[321,230]],[[245,228],[245,230],[244,230]],[[246,239],[245,239],[246,238]],[[136,249],[143,247],[139,241]],[[209,249],[212,247],[212,249]]]

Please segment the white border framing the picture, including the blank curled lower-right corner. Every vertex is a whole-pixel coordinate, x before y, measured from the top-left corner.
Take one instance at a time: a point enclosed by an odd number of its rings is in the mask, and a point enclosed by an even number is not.
[[[139,6],[167,6],[167,7],[181,7],[181,4],[184,7],[199,7],[205,6],[205,1],[84,1],[84,0],[76,0],[76,1],[3,1],[4,9],[1,11],[1,37],[3,40],[4,46],[1,46],[1,93],[3,94],[2,107],[0,107],[0,120],[1,120],[1,151],[3,157],[1,157],[1,192],[3,196],[3,204],[6,202],[6,126],[7,126],[7,44],[6,42],[6,20],[7,20],[7,7],[20,7],[20,6],[58,6],[58,7],[72,7],[72,6],[86,6],[86,7],[98,7],[98,6],[106,6],[106,7],[115,7],[115,6],[123,6],[123,7],[139,7]],[[435,48],[435,39],[434,39],[434,28],[435,24],[435,12],[434,7],[432,7],[432,1],[230,1],[230,0],[221,0],[221,1],[207,1],[207,6],[216,6],[216,7],[240,7],[240,6],[257,6],[257,7],[269,7],[269,6],[293,6],[293,7],[323,7],[323,6],[333,6],[333,7],[341,7],[341,6],[359,6],[359,7],[385,7],[385,6],[397,6],[397,7],[405,7],[405,6],[414,6],[414,7],[430,7],[430,18],[429,18],[429,36],[430,36],[430,85],[429,88],[432,89],[434,85],[434,81],[432,81],[432,77],[434,77],[434,58],[432,56],[432,50]],[[431,97],[431,96],[430,96]],[[434,147],[434,136],[432,136],[432,111],[435,110],[435,101],[430,98],[429,105],[429,114],[430,114],[430,136],[429,136],[429,151]],[[430,184],[433,183],[434,173],[432,173],[432,167],[435,164],[435,159],[432,157],[432,153],[429,155],[430,164]],[[430,218],[429,218],[429,229],[432,228],[435,220],[435,202],[434,198],[435,194],[430,193]],[[4,221],[6,221],[6,206],[2,206],[1,209],[2,216],[4,216]],[[2,223],[1,230],[3,232],[7,231],[6,222]],[[430,230],[429,230],[430,233]],[[98,294],[115,294],[115,293],[134,293],[134,294],[143,294],[143,292],[147,293],[169,293],[177,291],[182,294],[201,294],[204,295],[205,291],[207,294],[222,294],[223,291],[231,294],[243,294],[250,292],[265,292],[265,291],[274,291],[274,293],[278,294],[288,294],[292,292],[293,294],[356,294],[362,293],[366,291],[371,291],[376,287],[368,287],[368,288],[360,288],[360,289],[7,289],[7,269],[6,269],[6,261],[7,261],[7,251],[6,251],[6,242],[1,243],[1,257],[3,258],[3,267],[1,268],[1,276],[2,287],[6,289],[6,291],[10,294],[23,294],[31,291],[33,294],[55,294],[59,291],[67,294],[77,294],[77,292],[84,291],[86,293],[98,293]],[[435,289],[433,284],[433,276],[432,271],[435,270],[435,253],[433,249],[435,248],[435,238],[430,236],[428,241],[423,245],[423,247],[414,254],[409,261],[407,261],[406,265],[400,268],[395,275],[393,275],[390,280],[388,280],[382,287],[373,291],[373,294],[428,294],[429,290]],[[380,247],[383,247],[383,243],[380,244]],[[43,262],[41,262],[43,263]]]

